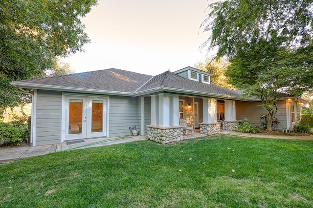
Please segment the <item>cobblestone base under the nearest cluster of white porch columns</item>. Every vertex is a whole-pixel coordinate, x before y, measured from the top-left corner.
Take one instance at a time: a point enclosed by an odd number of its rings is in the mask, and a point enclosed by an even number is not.
[[[183,126],[160,127],[147,125],[148,139],[160,144],[183,141]]]

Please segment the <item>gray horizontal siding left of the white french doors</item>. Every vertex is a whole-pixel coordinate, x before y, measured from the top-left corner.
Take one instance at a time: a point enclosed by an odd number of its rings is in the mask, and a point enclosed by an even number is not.
[[[62,92],[37,90],[36,146],[61,143]]]

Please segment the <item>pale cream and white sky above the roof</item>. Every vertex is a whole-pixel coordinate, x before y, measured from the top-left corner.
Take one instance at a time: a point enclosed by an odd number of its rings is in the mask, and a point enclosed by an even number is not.
[[[203,61],[207,0],[99,0],[82,20],[91,43],[68,62],[76,73],[118,68],[157,75]]]

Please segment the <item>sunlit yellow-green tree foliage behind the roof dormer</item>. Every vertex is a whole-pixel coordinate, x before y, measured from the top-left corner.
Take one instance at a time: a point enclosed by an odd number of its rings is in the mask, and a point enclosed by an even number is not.
[[[226,57],[220,59],[207,57],[204,62],[196,63],[195,67],[210,73],[212,84],[233,90],[233,85],[229,83],[229,78],[225,76],[228,65],[229,62]]]

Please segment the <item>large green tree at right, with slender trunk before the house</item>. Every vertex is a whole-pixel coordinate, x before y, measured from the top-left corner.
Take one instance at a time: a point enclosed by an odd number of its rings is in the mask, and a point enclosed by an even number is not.
[[[207,9],[202,47],[230,59],[230,82],[261,99],[271,130],[282,93],[313,87],[312,0],[225,0]]]

